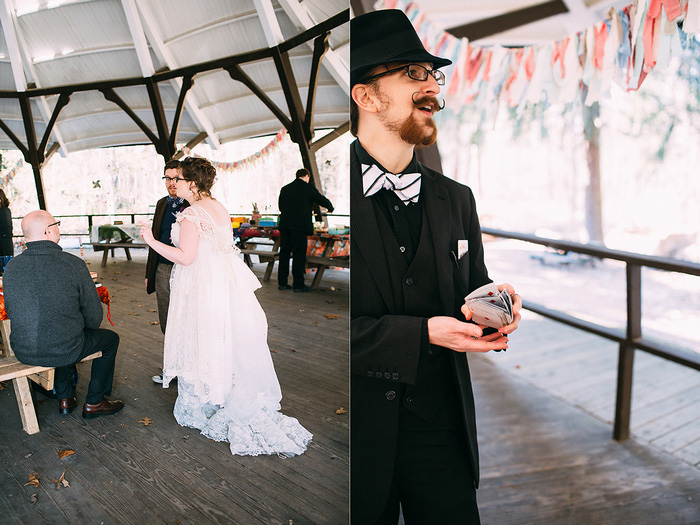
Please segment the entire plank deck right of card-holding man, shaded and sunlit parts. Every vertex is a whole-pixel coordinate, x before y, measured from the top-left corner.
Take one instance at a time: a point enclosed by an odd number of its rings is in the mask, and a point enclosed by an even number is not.
[[[484,524],[700,523],[700,374],[639,354],[623,443],[615,345],[526,312],[507,353],[470,356]]]

